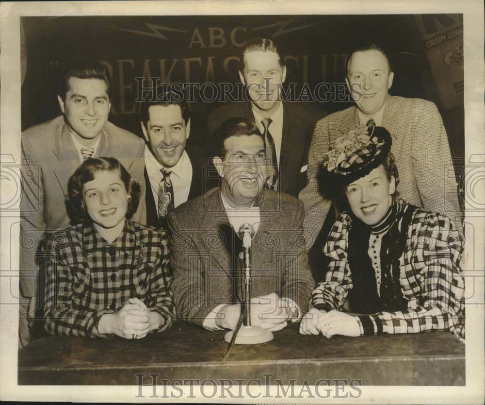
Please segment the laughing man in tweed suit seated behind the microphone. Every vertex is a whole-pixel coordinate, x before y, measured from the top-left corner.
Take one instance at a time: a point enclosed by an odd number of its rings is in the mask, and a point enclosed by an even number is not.
[[[234,329],[240,314],[240,230],[252,229],[251,318],[280,330],[307,311],[314,281],[302,241],[304,209],[264,187],[264,137],[246,118],[229,118],[214,134],[220,187],[169,214],[170,266],[178,315],[209,330]]]

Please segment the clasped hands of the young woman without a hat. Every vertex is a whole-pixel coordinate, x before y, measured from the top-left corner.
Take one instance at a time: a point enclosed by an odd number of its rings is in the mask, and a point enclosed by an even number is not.
[[[113,334],[126,339],[142,339],[163,324],[163,317],[150,311],[138,298],[130,298],[118,312],[105,314],[98,324],[101,335]]]

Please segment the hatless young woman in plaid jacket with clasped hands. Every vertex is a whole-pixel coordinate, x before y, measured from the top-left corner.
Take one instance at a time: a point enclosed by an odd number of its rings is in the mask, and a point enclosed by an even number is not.
[[[52,238],[46,286],[51,335],[141,339],[172,324],[168,236],[130,218],[140,185],[111,157],[85,160],[68,184],[81,221]]]

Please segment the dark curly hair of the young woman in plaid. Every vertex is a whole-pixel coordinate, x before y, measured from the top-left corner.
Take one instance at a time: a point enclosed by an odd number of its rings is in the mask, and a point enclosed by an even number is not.
[[[126,213],[126,218],[130,219],[138,208],[141,187],[137,182],[131,180],[128,171],[114,157],[92,157],[86,159],[69,179],[67,189],[74,219],[78,222],[91,221],[82,200],[82,188],[87,182],[94,180],[94,176],[98,171],[115,171],[118,173],[125,185],[127,194],[131,197]]]

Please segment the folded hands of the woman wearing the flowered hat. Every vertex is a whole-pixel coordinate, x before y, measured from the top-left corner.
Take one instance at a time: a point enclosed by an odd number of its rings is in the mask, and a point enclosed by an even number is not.
[[[302,335],[322,334],[324,337],[360,336],[360,327],[357,318],[353,315],[336,310],[325,312],[312,308],[300,322],[300,333]]]

